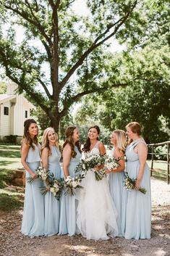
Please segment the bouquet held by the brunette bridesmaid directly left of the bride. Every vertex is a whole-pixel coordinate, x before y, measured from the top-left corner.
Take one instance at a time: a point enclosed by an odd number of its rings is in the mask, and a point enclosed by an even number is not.
[[[75,178],[67,176],[67,178],[64,180],[65,194],[68,194],[69,196],[74,196],[75,189],[82,189],[82,186],[80,186],[82,178],[84,178],[84,176],[76,176]]]

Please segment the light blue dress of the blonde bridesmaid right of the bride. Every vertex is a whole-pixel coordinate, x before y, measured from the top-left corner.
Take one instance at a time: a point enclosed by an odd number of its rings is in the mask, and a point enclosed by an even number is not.
[[[114,157],[114,148],[109,153]],[[111,198],[117,211],[118,236],[122,236],[121,218],[122,218],[122,194],[123,194],[124,171],[119,173],[109,173],[109,189]]]

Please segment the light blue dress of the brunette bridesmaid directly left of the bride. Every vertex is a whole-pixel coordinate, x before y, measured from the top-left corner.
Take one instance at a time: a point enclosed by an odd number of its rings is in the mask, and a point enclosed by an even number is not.
[[[75,177],[75,168],[80,163],[80,158],[82,154],[75,146],[76,157],[71,158],[69,162],[69,176]],[[77,173],[76,173],[77,176]],[[62,176],[64,177],[64,171]],[[77,191],[76,191],[77,192]],[[65,191],[61,194],[61,210],[60,210],[60,222],[59,222],[59,235],[69,234],[73,236],[77,233],[76,227],[76,212],[77,212],[77,199],[76,195],[69,196],[64,194]]]

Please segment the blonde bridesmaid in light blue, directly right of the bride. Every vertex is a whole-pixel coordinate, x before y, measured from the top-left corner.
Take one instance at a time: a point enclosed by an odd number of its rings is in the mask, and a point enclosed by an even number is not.
[[[119,167],[107,170],[106,173],[109,174],[109,189],[111,192],[111,197],[114,201],[114,205],[117,210],[117,226],[118,226],[118,236],[122,236],[121,228],[121,216],[122,216],[122,192],[123,192],[123,181],[124,181],[124,152],[126,144],[126,133],[122,130],[115,130],[111,135],[111,144],[114,145],[111,149],[110,156],[119,159]]]

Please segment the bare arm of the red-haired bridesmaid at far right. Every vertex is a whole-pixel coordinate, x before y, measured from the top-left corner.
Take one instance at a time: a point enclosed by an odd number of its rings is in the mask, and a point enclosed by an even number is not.
[[[139,170],[139,174],[137,177],[137,181],[135,184],[135,189],[139,189],[140,188],[140,181],[143,178],[143,173],[145,170],[145,164],[146,164],[146,160],[147,160],[147,154],[148,154],[148,149],[145,146],[145,144],[143,143],[139,143],[136,146],[137,149],[137,154],[139,156],[139,161],[140,161],[140,170]]]

